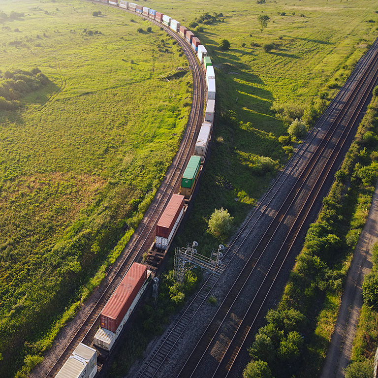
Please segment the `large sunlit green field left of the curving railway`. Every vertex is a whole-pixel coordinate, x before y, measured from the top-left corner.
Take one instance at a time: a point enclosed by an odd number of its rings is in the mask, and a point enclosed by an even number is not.
[[[0,377],[40,360],[177,151],[191,73],[164,79],[187,61],[159,28],[136,32],[148,26],[99,3],[0,1],[0,81],[34,67],[50,80],[0,112]]]

